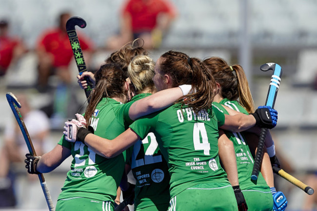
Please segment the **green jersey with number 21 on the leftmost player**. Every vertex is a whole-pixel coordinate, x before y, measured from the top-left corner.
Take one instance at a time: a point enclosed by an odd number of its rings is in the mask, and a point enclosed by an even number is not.
[[[103,98],[99,102],[90,124],[96,135],[114,139],[125,131],[123,120],[115,114],[121,106],[120,102],[111,98]],[[68,142],[64,136],[59,145],[70,149],[74,159],[58,199],[86,197],[114,201],[126,158],[129,157],[127,151],[107,159],[79,141]]]

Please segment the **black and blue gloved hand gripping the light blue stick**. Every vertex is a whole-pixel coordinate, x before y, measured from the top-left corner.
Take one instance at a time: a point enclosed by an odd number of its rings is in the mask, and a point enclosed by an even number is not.
[[[255,113],[252,113],[256,119],[256,126],[272,129],[277,125],[277,110],[271,106],[259,106]]]

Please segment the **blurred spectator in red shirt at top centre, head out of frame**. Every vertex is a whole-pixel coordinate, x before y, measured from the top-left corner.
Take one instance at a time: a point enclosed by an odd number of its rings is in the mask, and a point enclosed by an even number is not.
[[[106,47],[118,50],[136,38],[144,40],[143,48],[158,48],[177,11],[168,0],[126,0],[121,11],[119,36],[113,36]]]

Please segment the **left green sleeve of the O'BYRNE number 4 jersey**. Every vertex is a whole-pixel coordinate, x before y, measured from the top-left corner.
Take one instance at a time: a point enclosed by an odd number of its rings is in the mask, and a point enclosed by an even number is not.
[[[146,115],[130,125],[130,128],[140,136],[141,139],[144,139],[145,136],[152,132],[155,129],[155,126],[158,122],[158,113],[153,113],[151,115]]]

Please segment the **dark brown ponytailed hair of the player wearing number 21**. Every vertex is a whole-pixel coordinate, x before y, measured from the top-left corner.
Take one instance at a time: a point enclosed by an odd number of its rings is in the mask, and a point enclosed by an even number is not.
[[[85,111],[87,125],[95,112],[97,104],[103,97],[125,97],[124,83],[126,77],[119,65],[103,64],[95,73],[96,87],[91,93],[90,102]]]

